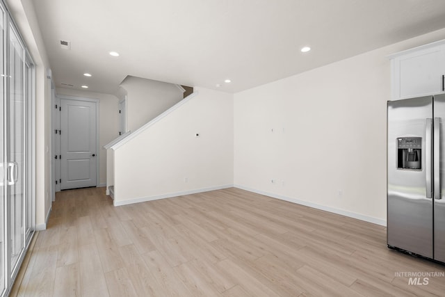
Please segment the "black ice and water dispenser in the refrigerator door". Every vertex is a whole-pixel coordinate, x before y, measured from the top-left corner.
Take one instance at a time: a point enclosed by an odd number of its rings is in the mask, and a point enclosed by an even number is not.
[[[397,168],[420,170],[422,161],[422,138],[397,138]]]

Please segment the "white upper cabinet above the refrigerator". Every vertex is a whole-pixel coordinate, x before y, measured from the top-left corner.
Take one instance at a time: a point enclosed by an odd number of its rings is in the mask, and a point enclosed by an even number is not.
[[[445,44],[435,42],[391,57],[392,99],[445,93]]]

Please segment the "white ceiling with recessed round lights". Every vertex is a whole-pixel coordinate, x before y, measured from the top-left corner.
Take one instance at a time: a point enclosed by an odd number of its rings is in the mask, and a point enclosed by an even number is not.
[[[114,93],[127,75],[236,93],[445,27],[444,0],[38,0],[34,6],[56,87],[87,85],[99,93]],[[312,51],[301,53],[306,45]]]

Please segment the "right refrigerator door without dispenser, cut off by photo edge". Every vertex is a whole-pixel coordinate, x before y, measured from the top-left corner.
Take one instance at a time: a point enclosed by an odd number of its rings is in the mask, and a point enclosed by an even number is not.
[[[434,200],[434,258],[437,261],[445,262],[445,95],[435,95],[434,97],[434,116],[439,118],[439,139],[440,141],[436,145],[440,146],[440,159],[435,160],[435,163],[439,165],[440,176],[435,179],[440,179],[439,188],[440,192],[435,193]],[[436,171],[436,170],[435,170]],[[437,185],[435,185],[437,188]]]

